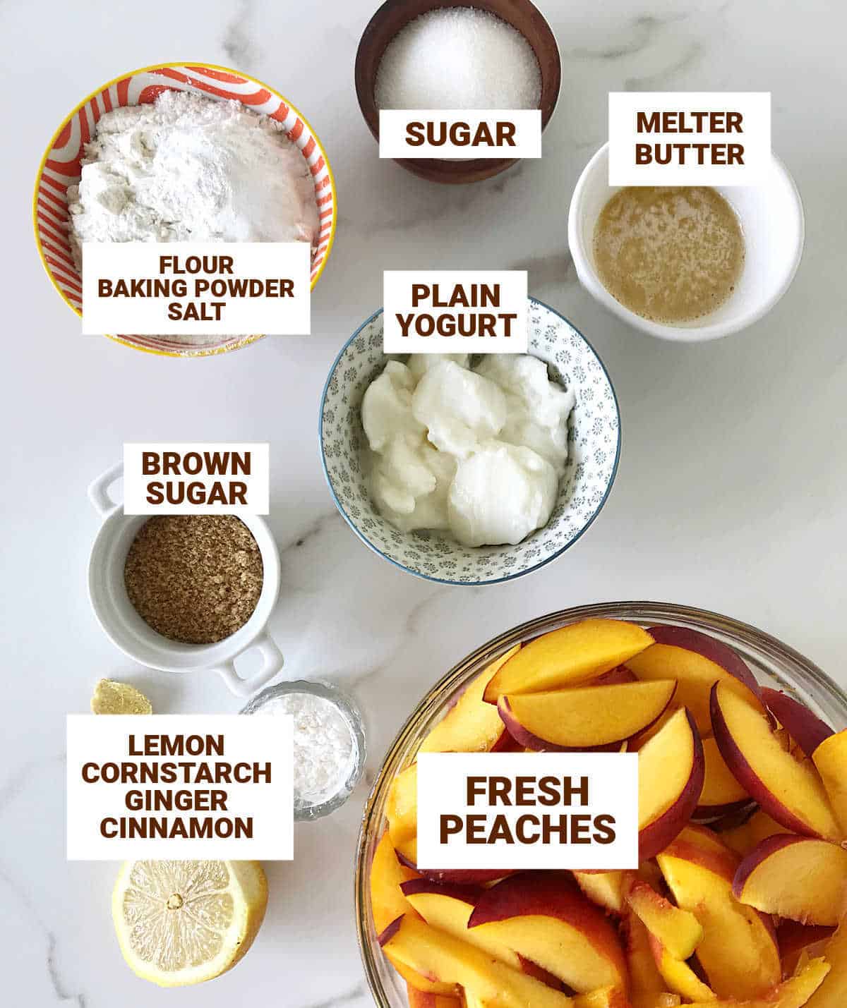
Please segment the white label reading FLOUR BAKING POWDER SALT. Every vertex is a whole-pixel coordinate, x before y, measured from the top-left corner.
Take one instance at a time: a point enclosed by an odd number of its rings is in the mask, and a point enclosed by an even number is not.
[[[83,334],[310,333],[308,242],[86,242]]]

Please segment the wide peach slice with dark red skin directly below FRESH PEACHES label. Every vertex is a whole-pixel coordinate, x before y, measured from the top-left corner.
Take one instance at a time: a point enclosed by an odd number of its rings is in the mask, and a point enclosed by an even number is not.
[[[577,992],[626,989],[614,927],[568,872],[521,872],[486,889],[468,921]]]

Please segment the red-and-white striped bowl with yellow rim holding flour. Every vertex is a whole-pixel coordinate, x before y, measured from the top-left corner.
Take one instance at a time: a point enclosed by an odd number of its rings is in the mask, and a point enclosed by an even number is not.
[[[306,118],[266,84],[255,78],[213,64],[160,64],[133,71],[110,81],[84,99],[62,122],[47,145],[35,179],[32,220],[38,255],[55,289],[78,316],[82,314],[82,277],[71,258],[68,186],[80,180],[84,146],[94,135],[98,119],[123,105],[144,105],[162,91],[191,91],[219,101],[234,99],[252,112],[276,119],[306,159],[315,179],[315,202],[321,221],[317,248],[312,254],[312,287],[324,271],[335,238],[338,200],[335,179],[321,141]],[[187,346],[175,337],[110,336],[136,350],[168,357],[207,357],[224,354],[261,336],[209,337],[202,344]]]

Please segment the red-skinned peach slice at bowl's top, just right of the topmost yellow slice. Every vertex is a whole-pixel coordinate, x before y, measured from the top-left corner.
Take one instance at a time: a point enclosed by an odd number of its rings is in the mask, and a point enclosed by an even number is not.
[[[715,682],[726,682],[739,697],[752,699],[758,691],[752,673],[731,648],[724,651],[721,645],[718,653],[710,647],[718,641],[695,631],[676,627],[653,627],[653,631],[658,643],[630,658],[626,667],[642,681],[676,679],[675,703],[691,711],[702,736],[712,731],[709,691]]]

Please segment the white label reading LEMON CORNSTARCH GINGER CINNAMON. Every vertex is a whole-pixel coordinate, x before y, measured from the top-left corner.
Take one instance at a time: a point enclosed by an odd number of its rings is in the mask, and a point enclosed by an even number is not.
[[[69,715],[68,860],[290,861],[292,734],[288,716]]]

